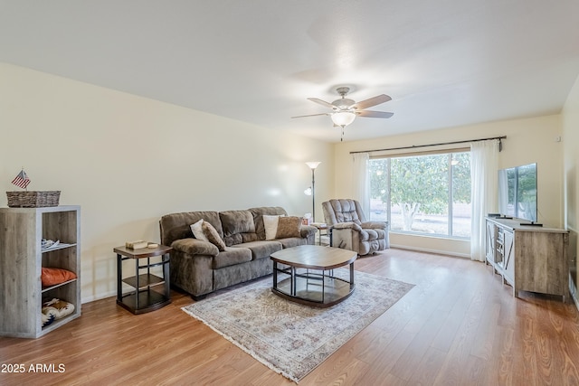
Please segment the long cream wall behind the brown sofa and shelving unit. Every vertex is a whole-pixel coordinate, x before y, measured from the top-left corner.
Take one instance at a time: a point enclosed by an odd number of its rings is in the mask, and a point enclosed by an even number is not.
[[[322,161],[319,203],[332,159],[329,144],[0,63],[0,189],[19,189],[10,182],[24,166],[29,190],[61,190],[62,204],[81,205],[85,302],[115,294],[112,249],[158,241],[163,214],[311,212],[304,162]]]

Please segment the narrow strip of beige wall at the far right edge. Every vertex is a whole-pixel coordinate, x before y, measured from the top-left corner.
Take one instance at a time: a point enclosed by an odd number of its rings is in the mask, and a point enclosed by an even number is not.
[[[565,225],[570,232],[570,272],[571,293],[575,304],[579,307],[577,299],[577,271],[579,261],[577,254],[577,232],[579,231],[579,78],[575,80],[574,87],[565,102],[565,108],[561,114],[563,120],[563,137],[565,138]]]

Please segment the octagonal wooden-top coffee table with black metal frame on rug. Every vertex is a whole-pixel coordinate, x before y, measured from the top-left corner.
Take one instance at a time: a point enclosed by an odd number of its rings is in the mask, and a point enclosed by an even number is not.
[[[354,292],[354,261],[357,256],[352,250],[318,245],[300,245],[272,253],[271,291],[308,306],[334,306]],[[348,264],[349,281],[334,276],[334,268]],[[280,276],[286,278],[280,279]]]

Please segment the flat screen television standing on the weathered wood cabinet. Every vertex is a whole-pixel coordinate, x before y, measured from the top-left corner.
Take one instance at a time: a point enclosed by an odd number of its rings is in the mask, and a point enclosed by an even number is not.
[[[498,171],[498,211],[501,216],[536,222],[536,164]]]

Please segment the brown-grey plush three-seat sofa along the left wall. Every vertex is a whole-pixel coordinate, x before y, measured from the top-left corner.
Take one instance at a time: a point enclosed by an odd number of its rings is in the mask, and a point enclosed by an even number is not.
[[[171,285],[200,299],[218,289],[271,274],[270,255],[273,252],[314,244],[317,230],[305,225],[299,226],[297,234],[292,237],[266,240],[263,215],[288,216],[288,213],[280,207],[260,207],[225,212],[179,212],[163,216],[159,221],[161,243],[173,248]],[[195,239],[191,225],[201,219],[213,225],[223,240],[224,248]]]

